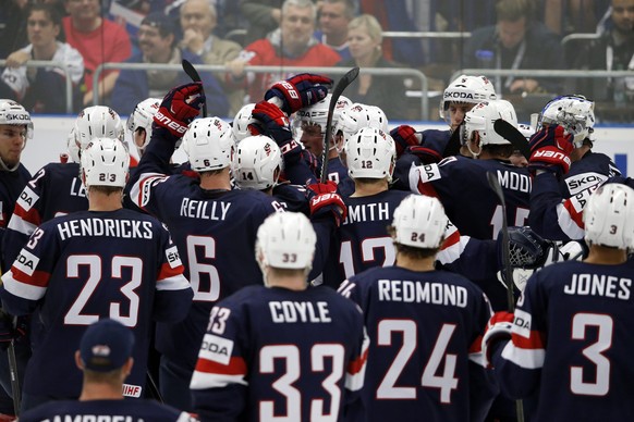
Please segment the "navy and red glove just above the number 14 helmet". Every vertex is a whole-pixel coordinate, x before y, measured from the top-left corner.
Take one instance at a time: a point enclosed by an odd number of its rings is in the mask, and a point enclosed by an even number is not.
[[[257,123],[248,125],[254,135],[266,135],[275,139],[286,163],[300,159],[302,146],[293,140],[293,133],[289,124],[289,117],[277,105],[267,101],[260,101],[253,108],[252,115]]]

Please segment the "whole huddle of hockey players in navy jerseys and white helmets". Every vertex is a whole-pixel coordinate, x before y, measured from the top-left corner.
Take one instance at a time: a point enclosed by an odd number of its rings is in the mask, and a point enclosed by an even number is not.
[[[122,395],[148,397],[157,372],[186,412],[166,421],[634,418],[634,183],[592,151],[594,103],[557,97],[529,127],[460,76],[447,131],[388,132],[377,107],[331,107],[331,84],[276,83],[232,124],[199,116],[200,83],[149,98],[127,121],[132,167],[100,105],[69,135],[73,162],[33,178],[0,162],[0,338],[19,356],[0,378],[17,375],[1,384],[21,420],[105,411],[90,352],[75,359],[103,319],[134,334]],[[0,135],[32,132],[0,100]]]

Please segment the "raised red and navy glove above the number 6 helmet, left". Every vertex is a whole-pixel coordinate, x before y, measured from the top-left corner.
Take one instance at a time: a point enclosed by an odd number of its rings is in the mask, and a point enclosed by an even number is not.
[[[200,113],[205,103],[203,83],[193,82],[178,86],[163,98],[154,122],[176,137],[187,132],[188,124]]]

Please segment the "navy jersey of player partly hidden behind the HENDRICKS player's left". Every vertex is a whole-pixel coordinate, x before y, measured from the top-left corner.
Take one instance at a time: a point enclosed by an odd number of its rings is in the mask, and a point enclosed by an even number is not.
[[[28,237],[44,222],[88,209],[80,164],[49,163],[26,184],[15,202],[3,239],[4,259],[13,263]]]

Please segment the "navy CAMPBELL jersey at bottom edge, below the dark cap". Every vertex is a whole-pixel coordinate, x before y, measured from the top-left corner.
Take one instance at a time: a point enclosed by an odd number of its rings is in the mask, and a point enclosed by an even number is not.
[[[20,414],[23,422],[195,422],[186,412],[154,400],[53,401]]]

